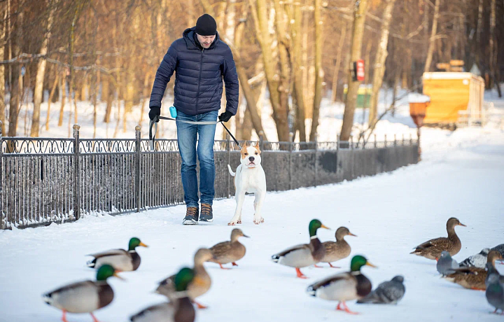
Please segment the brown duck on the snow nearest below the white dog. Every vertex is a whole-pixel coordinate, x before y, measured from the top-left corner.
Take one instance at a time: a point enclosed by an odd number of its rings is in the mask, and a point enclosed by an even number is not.
[[[233,266],[238,266],[236,261],[241,260],[246,251],[245,246],[238,241],[239,237],[248,238],[240,229],[235,228],[231,232],[231,241],[223,241],[215,246],[211,246],[209,249],[214,254],[215,259],[209,260],[209,262],[216,262],[222,269],[229,269],[223,267],[223,264],[228,264],[229,262]]]

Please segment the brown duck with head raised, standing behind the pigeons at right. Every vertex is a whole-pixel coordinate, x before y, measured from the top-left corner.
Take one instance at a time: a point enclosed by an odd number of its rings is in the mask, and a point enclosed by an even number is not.
[[[455,226],[467,227],[458,221],[457,218],[449,218],[447,221],[448,238],[440,237],[430,239],[429,241],[414,247],[415,250],[412,251],[411,254],[423,256],[430,260],[437,260],[442,251],[448,251],[451,256],[455,255],[462,248],[461,241],[455,233]]]

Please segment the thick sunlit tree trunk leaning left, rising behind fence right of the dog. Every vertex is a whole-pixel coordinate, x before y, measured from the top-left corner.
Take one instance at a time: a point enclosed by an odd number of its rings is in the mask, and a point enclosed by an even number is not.
[[[264,59],[265,76],[269,91],[269,100],[273,108],[273,119],[276,123],[276,132],[279,141],[288,141],[289,131],[287,116],[288,111],[282,109],[278,92],[279,75],[276,73],[276,62],[272,56],[271,39],[268,29],[268,14],[265,0],[248,0],[252,10],[252,16],[255,25],[255,35],[258,38]],[[257,5],[257,8],[255,7]]]

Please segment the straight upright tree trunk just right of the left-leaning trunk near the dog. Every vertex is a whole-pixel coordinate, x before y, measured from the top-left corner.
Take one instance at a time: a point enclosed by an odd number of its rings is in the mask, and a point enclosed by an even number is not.
[[[303,96],[303,70],[307,66],[303,66],[302,61],[302,11],[300,6],[294,6],[294,24],[292,27],[293,38],[293,69],[294,69],[294,89],[293,100],[295,100],[295,123],[296,130],[299,130],[300,142],[306,142],[306,129],[304,127],[304,120],[306,119],[306,111],[304,109],[304,96]]]

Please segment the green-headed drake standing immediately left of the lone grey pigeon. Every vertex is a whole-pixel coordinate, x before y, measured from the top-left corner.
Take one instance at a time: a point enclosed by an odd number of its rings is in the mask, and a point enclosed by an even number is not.
[[[371,292],[371,281],[360,272],[364,265],[375,267],[364,256],[353,256],[350,272],[329,276],[326,279],[311,284],[307,293],[323,300],[339,301],[336,309],[356,314],[346,307],[346,301],[360,300]],[[343,305],[343,307],[342,307]]]

